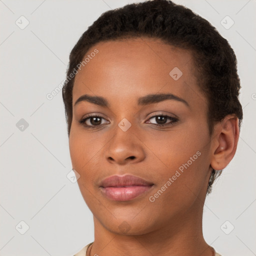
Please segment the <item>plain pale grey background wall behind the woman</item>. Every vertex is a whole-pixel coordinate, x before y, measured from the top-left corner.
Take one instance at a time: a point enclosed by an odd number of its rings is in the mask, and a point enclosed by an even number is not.
[[[62,95],[49,100],[46,94],[65,78],[69,52],[88,25],[131,2],[0,0],[0,255],[72,255],[93,241],[92,214],[77,183],[66,176],[72,166]],[[256,2],[175,2],[227,38],[242,85],[238,148],[206,198],[204,237],[223,256],[256,255]],[[228,29],[232,20],[226,15],[234,21]]]

